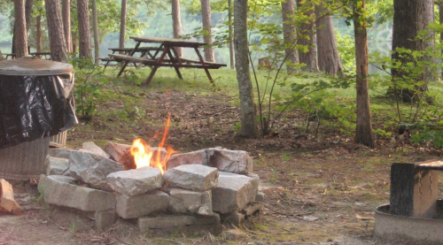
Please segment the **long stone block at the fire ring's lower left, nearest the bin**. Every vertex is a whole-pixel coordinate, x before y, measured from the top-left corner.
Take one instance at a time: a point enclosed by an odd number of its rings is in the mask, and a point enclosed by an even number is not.
[[[113,211],[112,193],[75,185],[75,179],[61,175],[42,175],[38,184],[46,203],[79,209],[81,211]]]

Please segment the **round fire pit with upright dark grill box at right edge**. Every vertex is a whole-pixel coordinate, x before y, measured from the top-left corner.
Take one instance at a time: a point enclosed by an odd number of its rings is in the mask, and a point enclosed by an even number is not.
[[[388,241],[441,244],[443,201],[438,176],[443,162],[391,166],[391,203],[377,207],[376,234]]]

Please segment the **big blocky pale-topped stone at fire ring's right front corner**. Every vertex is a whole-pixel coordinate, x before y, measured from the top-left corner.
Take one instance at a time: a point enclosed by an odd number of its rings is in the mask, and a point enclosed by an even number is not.
[[[247,203],[255,201],[259,180],[232,172],[220,172],[213,189],[213,210],[219,213],[241,211]]]

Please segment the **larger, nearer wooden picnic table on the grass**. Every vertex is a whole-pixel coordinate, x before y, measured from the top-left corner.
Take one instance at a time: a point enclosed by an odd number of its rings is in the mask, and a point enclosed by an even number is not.
[[[155,72],[160,66],[174,67],[175,73],[177,73],[180,79],[183,79],[182,73],[180,73],[181,67],[184,68],[199,68],[205,69],[207,78],[214,85],[214,80],[209,73],[209,69],[218,69],[226,64],[219,64],[213,62],[206,62],[200,54],[198,48],[202,48],[207,45],[206,42],[195,42],[183,39],[173,38],[159,38],[159,37],[135,37],[131,36],[130,39],[136,41],[136,46],[128,55],[122,54],[110,54],[110,57],[122,62],[120,72],[117,76],[120,76],[124,72],[129,62],[140,63],[143,65],[152,66],[152,71],[146,80],[146,85],[149,85]],[[153,43],[157,45],[155,53],[152,56],[134,57],[136,51],[138,51],[140,44]],[[175,48],[191,48],[195,50],[198,59],[190,59],[185,57],[179,57]]]

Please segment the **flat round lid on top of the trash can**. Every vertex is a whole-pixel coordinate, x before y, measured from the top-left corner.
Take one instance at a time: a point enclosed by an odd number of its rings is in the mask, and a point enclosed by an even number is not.
[[[0,61],[0,75],[48,76],[72,73],[73,65],[36,57]]]

